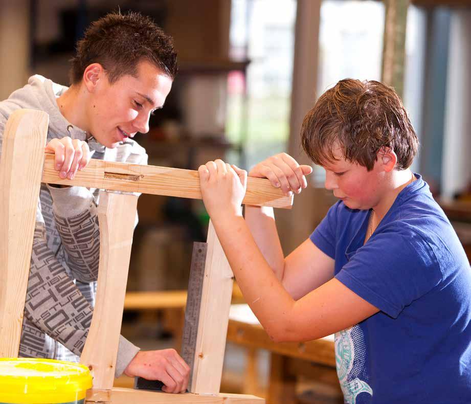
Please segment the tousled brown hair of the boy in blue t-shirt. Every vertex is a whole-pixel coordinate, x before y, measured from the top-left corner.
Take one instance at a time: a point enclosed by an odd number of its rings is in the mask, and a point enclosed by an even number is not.
[[[408,168],[418,139],[394,88],[374,80],[345,79],[328,89],[304,117],[301,141],[309,158],[319,165],[343,157],[373,169],[383,147],[397,155],[396,169]]]

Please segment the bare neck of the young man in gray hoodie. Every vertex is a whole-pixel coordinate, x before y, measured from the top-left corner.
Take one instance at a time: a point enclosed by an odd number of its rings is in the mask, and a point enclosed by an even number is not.
[[[60,113],[66,120],[85,132],[90,132],[86,111],[86,92],[80,85],[70,86],[56,101]]]

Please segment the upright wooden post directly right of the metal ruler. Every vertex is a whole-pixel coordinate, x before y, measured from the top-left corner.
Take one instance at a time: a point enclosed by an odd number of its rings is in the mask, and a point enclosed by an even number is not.
[[[189,389],[197,394],[219,393],[233,287],[231,267],[211,221],[207,242],[198,336]]]

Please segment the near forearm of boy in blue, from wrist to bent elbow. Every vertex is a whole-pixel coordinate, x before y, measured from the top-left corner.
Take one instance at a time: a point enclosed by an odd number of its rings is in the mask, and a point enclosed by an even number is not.
[[[237,284],[268,335],[284,338],[294,300],[257,248],[241,216],[213,218],[213,226]]]

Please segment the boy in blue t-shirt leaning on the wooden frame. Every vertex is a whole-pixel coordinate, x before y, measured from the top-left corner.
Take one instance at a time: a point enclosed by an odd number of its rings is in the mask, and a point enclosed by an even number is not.
[[[220,160],[199,168],[245,300],[275,341],[335,333],[345,402],[469,402],[471,271],[409,168],[418,141],[399,97],[376,81],[342,80],[306,115],[301,137],[340,200],[286,258],[272,209],[240,213],[246,172]],[[280,154],[249,175],[300,192],[310,171]]]

